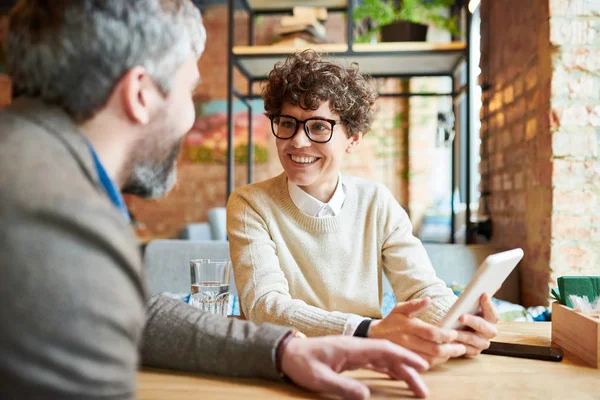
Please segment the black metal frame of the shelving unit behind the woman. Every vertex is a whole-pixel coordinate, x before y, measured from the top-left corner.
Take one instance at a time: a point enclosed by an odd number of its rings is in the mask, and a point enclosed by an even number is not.
[[[250,46],[253,46],[254,43],[254,17],[259,15],[286,15],[291,14],[291,8],[282,8],[282,9],[260,9],[254,10],[249,0],[239,0],[241,2],[242,8],[248,12],[248,43]],[[240,100],[247,108],[248,108],[248,183],[252,183],[253,181],[253,165],[254,165],[254,144],[252,138],[252,104],[251,100],[260,98],[259,95],[253,93],[253,84],[255,82],[264,81],[267,79],[266,75],[256,76],[252,75],[242,64],[242,60],[250,60],[250,59],[264,59],[264,58],[279,58],[285,59],[289,53],[269,53],[269,54],[245,54],[245,55],[236,55],[233,51],[234,48],[234,12],[236,10],[236,0],[228,0],[228,67],[227,67],[227,198],[234,189],[234,168],[235,168],[235,160],[234,160],[234,147],[233,147],[233,101],[234,98]],[[398,55],[398,52],[395,51],[377,51],[377,52],[365,52],[360,51],[356,52],[354,50],[354,39],[353,39],[353,31],[354,31],[354,22],[353,22],[353,1],[347,0],[346,7],[332,7],[327,8],[329,12],[344,12],[346,13],[346,29],[347,29],[347,51],[345,52],[336,52],[336,57],[344,57],[352,59],[357,57],[386,57]],[[470,146],[470,114],[471,114],[471,65],[469,63],[469,51],[470,51],[470,13],[467,13],[467,36],[466,36],[466,46],[462,52],[461,57],[458,59],[456,64],[452,67],[451,71],[443,72],[443,73],[411,73],[411,74],[395,74],[395,73],[385,73],[385,74],[369,74],[373,78],[399,78],[399,79],[410,79],[416,77],[448,77],[452,82],[452,92],[450,93],[436,93],[436,92],[427,92],[427,93],[380,93],[380,97],[413,97],[413,96],[435,96],[435,97],[443,97],[448,96],[452,98],[452,110],[456,115],[458,100],[462,96],[466,96],[465,105],[467,107],[467,124],[466,124],[466,138],[465,142],[467,145],[467,149]],[[418,56],[418,55],[434,55],[443,53],[444,50],[415,50],[415,51],[402,51],[402,55],[406,56]],[[456,83],[459,82],[457,80],[458,71],[461,66],[466,65],[466,83],[460,87],[457,87]],[[247,94],[240,93],[234,87],[233,82],[233,71],[234,68],[237,70],[248,80],[248,89]],[[456,128],[457,119],[454,118],[454,129]],[[458,134],[458,132],[456,132]],[[454,209],[454,189],[456,188],[456,177],[455,177],[455,161],[456,161],[456,149],[454,143],[451,146],[451,188],[450,188],[450,210],[451,210],[451,229],[450,229],[450,243],[455,243],[455,226],[456,226],[456,216]],[[466,181],[467,181],[467,192],[466,192],[466,232],[465,238],[466,242],[469,243],[471,241],[470,232],[471,232],[471,222],[470,222],[470,157],[466,157]]]

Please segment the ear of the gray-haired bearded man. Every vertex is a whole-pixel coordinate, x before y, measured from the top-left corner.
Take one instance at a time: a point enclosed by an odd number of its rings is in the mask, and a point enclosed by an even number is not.
[[[121,104],[125,114],[135,123],[150,122],[157,107],[158,90],[143,67],[133,67],[121,78]]]

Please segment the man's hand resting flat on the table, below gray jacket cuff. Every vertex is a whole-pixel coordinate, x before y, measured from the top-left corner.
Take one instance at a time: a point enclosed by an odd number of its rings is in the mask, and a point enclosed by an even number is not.
[[[417,371],[429,365],[417,354],[387,340],[327,336],[291,339],[285,347],[281,370],[298,386],[345,399],[367,399],[369,388],[340,372],[368,368],[406,381],[418,397],[428,395]]]

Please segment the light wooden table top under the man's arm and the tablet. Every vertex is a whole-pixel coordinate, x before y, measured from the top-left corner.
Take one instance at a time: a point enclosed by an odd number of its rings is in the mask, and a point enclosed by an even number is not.
[[[550,344],[549,322],[511,322],[499,325],[496,340],[535,345]],[[359,370],[346,373],[367,383],[374,399],[412,398],[404,382]],[[481,355],[451,360],[423,374],[429,399],[600,399],[600,370],[565,353],[562,362]],[[260,379],[216,378],[208,375],[142,371],[141,400],[192,399],[314,399],[318,395],[293,385]]]

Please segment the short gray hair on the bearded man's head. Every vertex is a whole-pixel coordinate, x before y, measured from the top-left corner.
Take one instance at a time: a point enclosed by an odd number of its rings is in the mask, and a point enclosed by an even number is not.
[[[135,66],[166,95],[205,41],[189,0],[21,0],[10,18],[7,68],[17,95],[56,104],[82,122]]]

